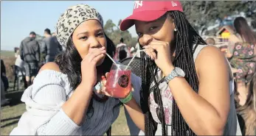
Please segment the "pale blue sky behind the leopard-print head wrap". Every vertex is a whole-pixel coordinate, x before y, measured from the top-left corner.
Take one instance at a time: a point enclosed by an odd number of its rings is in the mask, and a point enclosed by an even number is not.
[[[111,19],[116,25],[131,15],[134,7],[134,1],[1,1],[1,50],[18,47],[31,31],[43,35],[49,28],[54,32],[60,14],[81,3],[100,12],[104,24]],[[136,36],[134,26],[128,30]]]

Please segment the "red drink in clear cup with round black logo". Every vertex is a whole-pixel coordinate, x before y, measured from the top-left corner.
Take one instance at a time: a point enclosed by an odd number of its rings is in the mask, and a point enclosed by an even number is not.
[[[131,71],[111,70],[108,75],[106,88],[111,96],[124,99],[131,91]]]

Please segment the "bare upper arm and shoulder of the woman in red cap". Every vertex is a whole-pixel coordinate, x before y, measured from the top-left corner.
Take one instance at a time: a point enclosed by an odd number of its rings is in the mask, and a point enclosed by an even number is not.
[[[221,52],[215,46],[206,46],[198,54],[198,94],[215,107],[221,117],[221,126],[225,126],[229,113],[229,69]]]

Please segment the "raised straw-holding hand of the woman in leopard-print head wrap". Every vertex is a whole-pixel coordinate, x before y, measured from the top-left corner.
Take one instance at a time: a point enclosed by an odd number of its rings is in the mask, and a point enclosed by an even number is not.
[[[93,87],[97,82],[97,62],[104,57],[105,47],[100,49],[89,49],[89,53],[83,58],[81,62],[81,84]]]

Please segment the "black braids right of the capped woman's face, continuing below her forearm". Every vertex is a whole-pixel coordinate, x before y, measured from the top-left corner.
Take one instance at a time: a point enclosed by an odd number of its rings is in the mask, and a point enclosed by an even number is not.
[[[173,65],[184,70],[186,74],[185,79],[198,93],[198,77],[196,74],[195,62],[193,61],[193,44],[206,44],[204,40],[196,33],[196,30],[190,25],[185,18],[185,15],[179,11],[170,12],[170,15],[174,18],[174,24],[176,25],[176,57]],[[176,118],[179,118],[176,120]],[[196,135],[184,121],[184,118],[179,111],[179,107],[173,99],[173,117],[172,126],[176,126],[172,129],[172,135]]]

